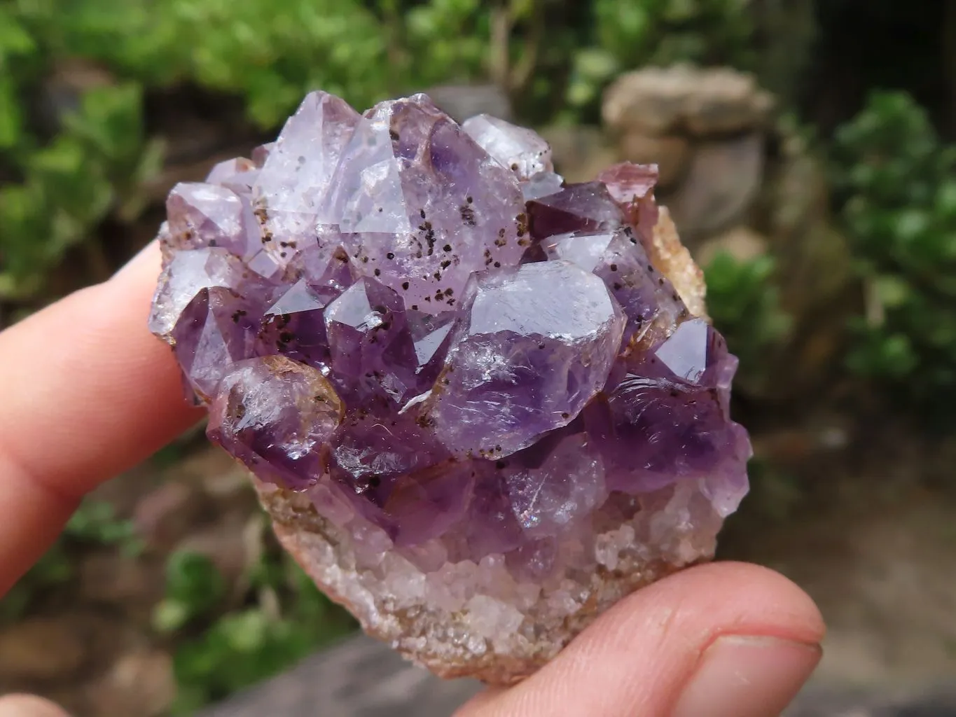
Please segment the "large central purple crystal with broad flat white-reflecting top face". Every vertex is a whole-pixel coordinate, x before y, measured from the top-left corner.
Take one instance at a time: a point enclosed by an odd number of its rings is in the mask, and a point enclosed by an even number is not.
[[[567,425],[604,385],[625,317],[565,261],[482,272],[424,416],[460,455],[497,458]]]

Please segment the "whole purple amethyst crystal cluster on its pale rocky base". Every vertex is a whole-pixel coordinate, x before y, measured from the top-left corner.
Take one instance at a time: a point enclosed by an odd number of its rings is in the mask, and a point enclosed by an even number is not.
[[[655,266],[655,179],[565,184],[531,130],[316,92],[169,195],[150,329],[209,438],[316,582],[442,674],[527,674],[709,557],[747,490],[736,359]]]

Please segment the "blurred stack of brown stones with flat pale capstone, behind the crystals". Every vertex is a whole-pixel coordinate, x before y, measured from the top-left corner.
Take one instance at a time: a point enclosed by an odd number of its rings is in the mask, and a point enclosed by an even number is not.
[[[621,159],[661,167],[659,199],[693,249],[750,221],[772,109],[751,76],[678,65],[619,76],[602,114]]]

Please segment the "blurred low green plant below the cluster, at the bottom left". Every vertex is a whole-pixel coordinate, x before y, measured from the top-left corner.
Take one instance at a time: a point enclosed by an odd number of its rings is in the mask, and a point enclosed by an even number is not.
[[[174,656],[173,714],[192,714],[355,629],[287,554],[264,554],[243,576],[243,588],[242,601],[224,612],[227,585],[212,562],[198,554],[169,556],[154,624],[167,633],[193,630]]]

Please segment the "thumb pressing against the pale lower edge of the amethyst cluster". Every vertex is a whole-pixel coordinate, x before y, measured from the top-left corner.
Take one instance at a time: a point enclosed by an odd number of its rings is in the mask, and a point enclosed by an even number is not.
[[[784,576],[691,568],[624,598],[531,678],[457,717],[777,717],[819,662],[823,630]]]

